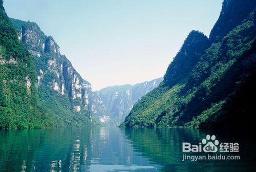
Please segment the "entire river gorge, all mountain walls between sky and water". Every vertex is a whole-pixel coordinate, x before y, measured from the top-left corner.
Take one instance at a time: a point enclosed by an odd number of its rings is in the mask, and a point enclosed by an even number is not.
[[[1,127],[240,128],[254,119],[254,1],[225,0],[209,38],[191,31],[163,78],[95,92],[52,36],[8,18],[3,1],[1,22]]]

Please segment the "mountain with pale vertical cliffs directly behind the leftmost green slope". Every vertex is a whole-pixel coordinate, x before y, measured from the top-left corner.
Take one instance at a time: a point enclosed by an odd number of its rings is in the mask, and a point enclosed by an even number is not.
[[[18,39],[33,56],[36,68],[39,101],[56,126],[91,124],[91,84],[73,68],[53,37],[47,36],[33,22],[10,19]],[[36,79],[35,79],[36,80]]]

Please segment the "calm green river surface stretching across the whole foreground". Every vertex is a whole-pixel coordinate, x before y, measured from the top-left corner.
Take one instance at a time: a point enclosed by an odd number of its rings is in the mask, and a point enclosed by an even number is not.
[[[182,142],[206,134],[239,142],[241,159],[182,161]],[[255,171],[254,146],[246,134],[178,128],[1,130],[0,171]]]

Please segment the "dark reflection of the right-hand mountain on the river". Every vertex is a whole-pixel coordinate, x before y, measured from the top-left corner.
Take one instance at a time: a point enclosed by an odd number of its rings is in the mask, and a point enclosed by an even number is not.
[[[239,153],[222,153],[221,155],[238,155],[240,160],[182,161],[182,142],[199,144],[207,134],[216,135],[220,142],[238,142]],[[125,135],[132,141],[134,151],[147,157],[151,163],[161,164],[161,171],[256,170],[255,141],[246,133],[211,132],[189,128],[126,128]],[[205,155],[205,153],[186,153],[186,155]]]

